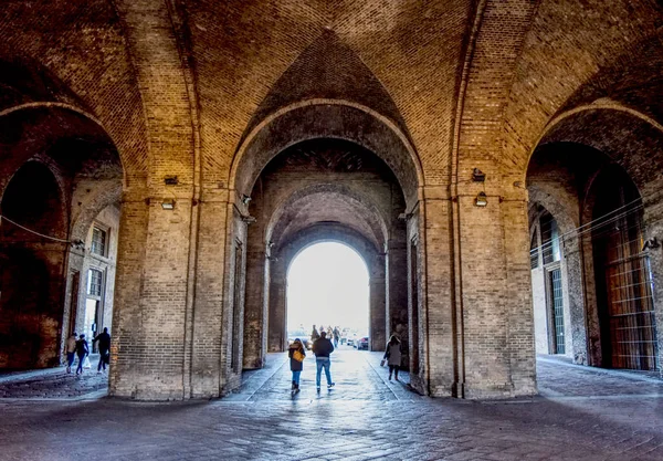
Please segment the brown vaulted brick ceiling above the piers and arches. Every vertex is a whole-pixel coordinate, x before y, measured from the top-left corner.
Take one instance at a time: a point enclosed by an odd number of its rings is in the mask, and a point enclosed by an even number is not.
[[[0,93],[90,111],[127,187],[173,170],[189,186],[193,158],[206,185],[225,184],[264,113],[315,96],[373,105],[403,127],[428,186],[456,164],[498,160],[517,176],[550,117],[575,105],[608,97],[662,122],[659,3],[15,0],[0,11],[0,59],[36,84]],[[297,70],[311,85],[287,84]],[[316,94],[320,82],[338,91]],[[391,103],[373,104],[375,88]]]

